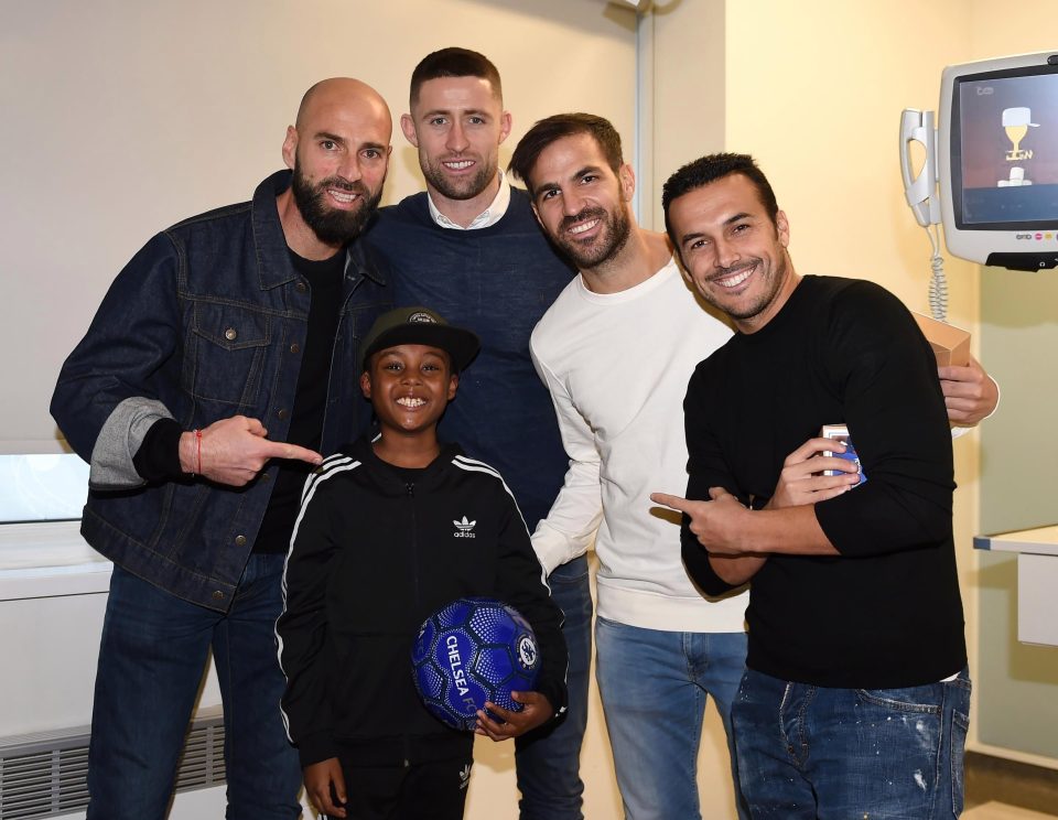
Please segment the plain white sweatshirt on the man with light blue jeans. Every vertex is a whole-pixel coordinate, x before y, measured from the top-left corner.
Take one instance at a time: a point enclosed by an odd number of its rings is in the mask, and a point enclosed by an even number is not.
[[[683,495],[683,397],[694,366],[731,331],[703,311],[674,260],[619,293],[582,277],[532,332],[570,456],[565,484],[532,546],[543,568],[583,554],[596,527],[598,614],[669,632],[742,632],[748,592],[704,597],[680,559],[679,515],[650,493]]]

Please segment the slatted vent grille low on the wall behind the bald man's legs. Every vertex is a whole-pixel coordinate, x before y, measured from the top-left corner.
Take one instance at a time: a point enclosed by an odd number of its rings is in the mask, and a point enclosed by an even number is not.
[[[88,730],[85,726],[0,738],[0,820],[30,820],[88,806]],[[176,790],[224,783],[220,706],[199,710],[176,770]]]

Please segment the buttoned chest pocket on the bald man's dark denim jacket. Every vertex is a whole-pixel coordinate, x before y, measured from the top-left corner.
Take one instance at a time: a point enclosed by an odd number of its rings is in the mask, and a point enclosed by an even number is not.
[[[196,302],[184,388],[196,399],[249,409],[257,401],[273,317],[236,305]]]

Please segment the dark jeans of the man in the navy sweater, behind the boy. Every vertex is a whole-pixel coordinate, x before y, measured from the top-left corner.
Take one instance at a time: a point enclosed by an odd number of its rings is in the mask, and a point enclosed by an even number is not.
[[[581,744],[587,726],[592,667],[592,591],[587,559],[576,558],[548,578],[563,613],[562,636],[570,652],[565,716],[515,741],[521,820],[582,820],[584,783]]]

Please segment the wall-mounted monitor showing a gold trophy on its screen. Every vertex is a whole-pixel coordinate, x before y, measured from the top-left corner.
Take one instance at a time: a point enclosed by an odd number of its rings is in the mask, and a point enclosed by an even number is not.
[[[1058,48],[944,69],[937,165],[948,250],[1058,266]]]

